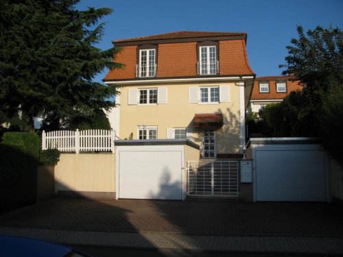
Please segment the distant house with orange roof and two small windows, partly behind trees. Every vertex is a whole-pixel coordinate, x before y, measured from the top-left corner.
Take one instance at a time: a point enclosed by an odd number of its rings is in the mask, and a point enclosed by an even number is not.
[[[279,103],[294,90],[303,90],[303,84],[289,76],[257,77],[250,99],[251,112],[259,112],[268,103]]]

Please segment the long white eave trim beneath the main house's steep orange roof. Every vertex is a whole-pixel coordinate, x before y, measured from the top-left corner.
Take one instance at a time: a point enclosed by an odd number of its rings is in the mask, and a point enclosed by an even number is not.
[[[252,79],[253,76],[248,77],[191,77],[185,79],[144,79],[144,80],[123,80],[123,81],[111,81],[105,82],[105,84],[120,84],[120,85],[128,85],[128,84],[161,84],[161,83],[172,83],[172,82],[216,82],[216,81],[224,81],[224,80],[239,80],[239,79]]]

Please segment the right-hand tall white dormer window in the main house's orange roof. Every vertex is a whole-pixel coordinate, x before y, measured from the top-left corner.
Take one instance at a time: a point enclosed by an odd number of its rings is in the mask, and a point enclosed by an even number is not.
[[[198,43],[198,75],[215,75],[219,73],[217,42]]]

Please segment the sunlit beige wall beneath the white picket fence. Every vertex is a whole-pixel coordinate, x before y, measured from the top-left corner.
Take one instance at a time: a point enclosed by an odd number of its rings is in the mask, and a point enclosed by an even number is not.
[[[55,167],[58,191],[115,193],[115,154],[61,154]]]

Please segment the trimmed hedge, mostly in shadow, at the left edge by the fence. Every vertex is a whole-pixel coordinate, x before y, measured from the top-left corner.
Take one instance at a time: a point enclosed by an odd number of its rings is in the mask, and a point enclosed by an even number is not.
[[[33,132],[5,132],[0,143],[0,212],[34,204],[39,138]]]

